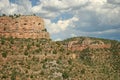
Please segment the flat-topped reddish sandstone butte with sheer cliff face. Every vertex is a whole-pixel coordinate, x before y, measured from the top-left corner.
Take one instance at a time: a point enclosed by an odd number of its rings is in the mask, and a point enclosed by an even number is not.
[[[38,16],[0,17],[0,37],[50,39],[44,20]]]

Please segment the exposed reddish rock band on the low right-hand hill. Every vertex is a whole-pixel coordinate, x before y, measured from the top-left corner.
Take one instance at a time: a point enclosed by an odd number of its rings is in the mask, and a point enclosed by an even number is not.
[[[82,51],[86,48],[90,49],[102,49],[110,48],[111,44],[105,44],[101,40],[91,40],[89,38],[84,39],[81,43],[78,40],[68,42],[67,49],[72,51]]]

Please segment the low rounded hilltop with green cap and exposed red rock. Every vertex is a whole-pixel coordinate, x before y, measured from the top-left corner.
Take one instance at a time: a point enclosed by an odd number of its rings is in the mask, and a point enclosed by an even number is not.
[[[110,40],[89,38],[89,37],[75,37],[64,41],[67,44],[68,50],[82,51],[86,48],[90,49],[109,49],[112,46]]]

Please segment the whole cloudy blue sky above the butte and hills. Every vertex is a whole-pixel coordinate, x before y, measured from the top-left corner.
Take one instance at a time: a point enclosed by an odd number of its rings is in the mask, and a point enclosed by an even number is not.
[[[120,0],[0,0],[0,14],[36,14],[53,40],[89,36],[120,41]]]

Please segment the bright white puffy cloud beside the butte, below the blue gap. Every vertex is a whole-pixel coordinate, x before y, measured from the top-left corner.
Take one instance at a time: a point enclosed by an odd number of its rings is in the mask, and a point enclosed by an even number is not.
[[[72,17],[67,20],[58,20],[57,23],[52,23],[51,20],[45,19],[46,27],[50,31],[51,34],[58,33],[60,31],[65,31],[67,27],[70,27],[74,24],[74,22],[79,19],[76,17]]]

